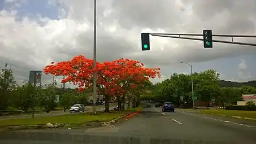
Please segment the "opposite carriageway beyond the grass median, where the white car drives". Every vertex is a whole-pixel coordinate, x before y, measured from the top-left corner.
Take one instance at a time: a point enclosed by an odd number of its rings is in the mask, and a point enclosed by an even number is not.
[[[104,105],[102,106],[97,106],[96,111],[103,111],[104,110]],[[114,105],[111,104],[110,109],[113,109]],[[85,112],[91,112],[92,107],[85,107]],[[78,114],[76,112],[70,113],[69,110],[64,111],[51,111],[49,113],[41,113],[41,114],[34,114],[34,117],[41,117],[41,116],[58,116],[58,115],[69,115],[69,114]],[[0,120],[8,120],[8,119],[21,119],[21,118],[27,118],[27,117],[32,117],[31,114],[29,115],[13,115],[13,116],[0,116]]]

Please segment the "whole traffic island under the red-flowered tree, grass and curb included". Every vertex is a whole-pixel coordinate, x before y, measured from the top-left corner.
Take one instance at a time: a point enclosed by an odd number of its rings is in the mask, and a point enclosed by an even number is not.
[[[98,115],[82,113],[62,116],[34,117],[34,119],[0,120],[0,129],[6,131],[21,129],[70,129],[91,126],[110,126],[120,120],[128,119],[140,111],[141,108],[136,108],[126,111],[110,111],[110,113],[98,112]]]

